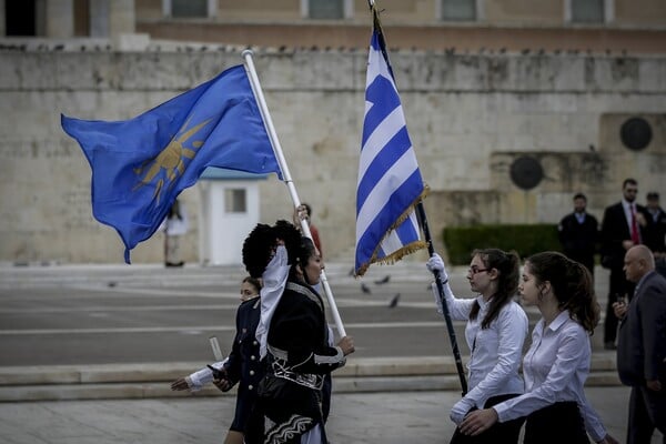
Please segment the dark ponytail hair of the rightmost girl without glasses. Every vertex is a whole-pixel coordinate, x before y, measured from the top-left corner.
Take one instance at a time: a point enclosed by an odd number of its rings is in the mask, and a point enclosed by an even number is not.
[[[558,307],[568,310],[571,319],[593,335],[601,309],[587,268],[554,251],[536,253],[526,263],[538,284],[551,282]]]

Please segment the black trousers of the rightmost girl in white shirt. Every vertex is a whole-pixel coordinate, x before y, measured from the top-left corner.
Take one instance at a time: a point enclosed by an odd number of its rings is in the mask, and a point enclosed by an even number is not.
[[[589,444],[578,404],[559,402],[527,415],[523,443]]]

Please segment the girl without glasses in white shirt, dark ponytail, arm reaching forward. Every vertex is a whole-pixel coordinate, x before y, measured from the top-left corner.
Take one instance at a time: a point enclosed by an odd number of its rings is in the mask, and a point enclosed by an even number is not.
[[[615,444],[585,398],[589,373],[589,335],[599,321],[599,305],[587,269],[561,253],[544,252],[525,262],[518,287],[525,304],[542,319],[523,360],[525,393],[492,408],[472,412],[461,432],[475,436],[497,423],[526,416],[526,444]]]

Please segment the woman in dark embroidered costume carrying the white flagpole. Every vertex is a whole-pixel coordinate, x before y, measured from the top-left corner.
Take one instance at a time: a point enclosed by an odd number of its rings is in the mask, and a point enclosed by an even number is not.
[[[245,442],[300,444],[306,440],[325,444],[324,376],[344,365],[354,344],[344,336],[337,345],[329,345],[324,303],[313,287],[324,264],[312,240],[285,221],[279,221],[273,230],[271,239],[255,229],[245,242],[248,254],[243,246],[243,256],[254,263],[246,264],[248,270],[265,269],[263,281],[269,289],[262,291],[256,333],[266,375],[259,386]]]

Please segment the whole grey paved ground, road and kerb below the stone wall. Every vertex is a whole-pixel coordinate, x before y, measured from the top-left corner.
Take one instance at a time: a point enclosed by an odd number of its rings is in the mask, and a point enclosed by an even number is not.
[[[465,270],[451,270],[456,294],[468,293]],[[341,263],[326,273],[357,344],[334,379],[331,442],[447,443],[460,385],[455,371],[432,370],[451,361],[451,346],[423,263],[372,268],[362,280]],[[0,444],[221,443],[234,397],[168,387],[211,359],[209,335],[231,341],[243,275],[198,265],[0,266]],[[596,283],[604,306],[602,269]],[[527,312],[533,324],[538,314]],[[458,343],[463,329],[455,323]],[[586,393],[624,442],[629,390],[601,336],[599,327]]]

